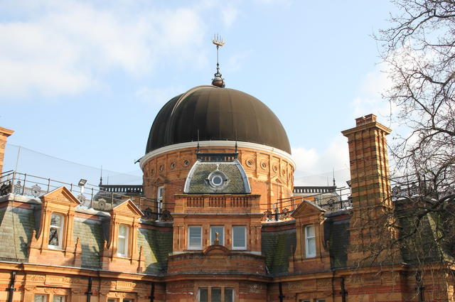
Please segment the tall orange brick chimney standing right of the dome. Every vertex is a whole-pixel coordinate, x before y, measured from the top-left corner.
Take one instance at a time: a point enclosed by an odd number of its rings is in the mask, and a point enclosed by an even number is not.
[[[391,130],[374,114],[355,119],[355,128],[342,131],[348,138],[353,216],[350,218],[348,263],[358,265],[390,239],[390,172],[385,136]],[[387,251],[390,252],[390,251]],[[373,258],[373,257],[372,257]],[[374,261],[380,261],[377,257]],[[383,259],[383,258],[382,258]]]

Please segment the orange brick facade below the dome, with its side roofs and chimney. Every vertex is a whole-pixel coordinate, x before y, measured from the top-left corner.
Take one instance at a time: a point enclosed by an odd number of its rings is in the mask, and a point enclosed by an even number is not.
[[[284,153],[246,147],[237,159],[251,193],[183,193],[196,146],[141,163],[146,197],[156,198],[164,186],[162,210],[171,212],[164,221],[145,217],[131,200],[109,212],[87,209],[64,187],[41,200],[0,196],[0,302],[11,295],[14,302],[38,295],[46,302],[55,296],[63,302],[199,302],[201,295],[223,302],[454,302],[453,268],[445,263],[362,262],[375,252],[365,247],[385,238],[372,222],[393,207],[390,129],[369,114],[343,134],[353,206],[336,211],[310,196],[296,199],[290,217],[270,220],[264,211],[273,204],[283,210],[282,198],[291,196],[294,163]],[[199,151],[229,153],[232,147]]]

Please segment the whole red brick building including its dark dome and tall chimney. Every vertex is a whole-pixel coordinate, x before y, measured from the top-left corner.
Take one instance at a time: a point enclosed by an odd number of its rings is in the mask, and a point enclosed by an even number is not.
[[[362,247],[384,236],[373,221],[394,207],[389,133],[373,114],[343,131],[349,198],[294,187],[273,112],[244,92],[194,87],[156,116],[141,186],[87,196],[83,183],[2,174],[0,301],[423,301],[402,251],[362,261],[375,254]],[[443,276],[451,266],[428,269]],[[422,282],[425,301],[454,301],[453,280]]]

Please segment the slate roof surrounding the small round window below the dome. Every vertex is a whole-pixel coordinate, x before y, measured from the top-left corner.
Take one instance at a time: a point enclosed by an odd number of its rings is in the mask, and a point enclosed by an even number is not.
[[[208,182],[213,171],[222,172],[228,178],[226,185],[215,188]],[[239,161],[201,162],[196,161],[185,183],[188,194],[245,194],[250,193],[250,185],[245,170]]]

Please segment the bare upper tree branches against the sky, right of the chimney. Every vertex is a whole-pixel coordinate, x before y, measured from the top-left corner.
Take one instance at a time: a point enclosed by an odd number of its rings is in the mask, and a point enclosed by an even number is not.
[[[409,129],[395,136],[392,156],[402,175],[441,199],[455,181],[455,1],[394,3],[400,14],[376,36],[393,83],[385,99]]]

